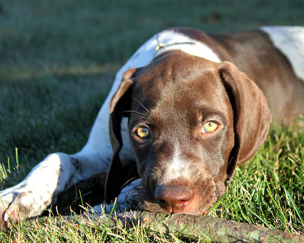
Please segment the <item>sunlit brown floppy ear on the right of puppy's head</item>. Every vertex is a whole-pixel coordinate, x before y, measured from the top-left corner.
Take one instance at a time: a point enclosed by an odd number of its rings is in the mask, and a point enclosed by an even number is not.
[[[227,167],[230,180],[236,166],[253,156],[264,142],[272,118],[265,96],[247,74],[231,62],[223,62],[219,74],[234,114],[235,146]]]

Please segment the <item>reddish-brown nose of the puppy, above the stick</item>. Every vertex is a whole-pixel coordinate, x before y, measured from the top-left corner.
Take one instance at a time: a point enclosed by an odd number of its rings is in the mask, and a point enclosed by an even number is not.
[[[155,190],[155,198],[168,213],[182,213],[193,198],[193,190],[185,185],[160,185]]]

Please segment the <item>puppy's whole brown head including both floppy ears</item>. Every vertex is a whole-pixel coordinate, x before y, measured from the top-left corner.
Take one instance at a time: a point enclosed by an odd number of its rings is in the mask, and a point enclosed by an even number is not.
[[[106,199],[122,186],[120,124],[142,178],[140,206],[153,212],[206,212],[223,195],[237,165],[268,134],[271,114],[261,90],[230,62],[214,63],[179,51],[130,69],[110,103],[113,158]]]

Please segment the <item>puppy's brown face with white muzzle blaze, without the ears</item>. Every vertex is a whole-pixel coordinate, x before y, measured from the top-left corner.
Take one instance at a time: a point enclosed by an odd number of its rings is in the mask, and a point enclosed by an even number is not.
[[[214,70],[185,61],[169,55],[134,77],[129,133],[145,210],[201,214],[225,190],[234,146],[232,106]],[[156,198],[157,188],[169,198]],[[186,195],[170,207],[165,200],[174,197],[174,188]]]

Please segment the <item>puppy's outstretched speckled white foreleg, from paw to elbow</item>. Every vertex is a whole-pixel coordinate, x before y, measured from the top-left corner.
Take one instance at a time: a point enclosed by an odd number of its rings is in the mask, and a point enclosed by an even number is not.
[[[86,157],[81,153],[47,156],[22,182],[0,192],[0,226],[6,226],[10,218],[19,221],[41,214],[48,205],[56,202],[58,193],[73,183],[106,172],[108,163],[102,163],[99,156],[91,154]]]

